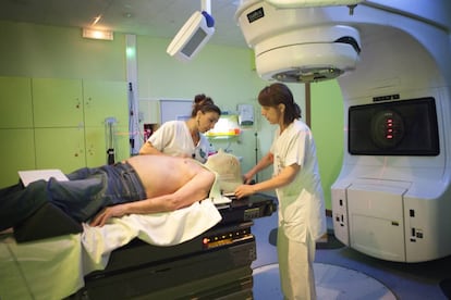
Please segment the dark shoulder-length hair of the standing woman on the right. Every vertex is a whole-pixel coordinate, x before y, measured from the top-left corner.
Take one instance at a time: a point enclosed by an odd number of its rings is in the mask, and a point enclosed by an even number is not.
[[[284,84],[276,83],[265,87],[258,93],[258,103],[261,107],[277,108],[285,104],[283,123],[290,124],[296,118],[301,118],[301,108],[294,102],[293,93]]]

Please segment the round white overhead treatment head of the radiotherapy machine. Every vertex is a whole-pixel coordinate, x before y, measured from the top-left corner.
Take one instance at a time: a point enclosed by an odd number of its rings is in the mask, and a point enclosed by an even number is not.
[[[308,17],[307,10],[248,2],[253,4],[239,8],[236,16],[264,79],[319,82],[355,68],[361,51],[355,28],[327,23],[301,27],[297,22]]]

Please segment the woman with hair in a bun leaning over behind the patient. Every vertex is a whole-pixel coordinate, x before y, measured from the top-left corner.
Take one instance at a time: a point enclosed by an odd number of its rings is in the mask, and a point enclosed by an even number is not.
[[[205,163],[210,143],[203,135],[215,127],[221,110],[211,98],[196,95],[191,117],[161,125],[139,149],[139,154],[166,154],[193,158]]]

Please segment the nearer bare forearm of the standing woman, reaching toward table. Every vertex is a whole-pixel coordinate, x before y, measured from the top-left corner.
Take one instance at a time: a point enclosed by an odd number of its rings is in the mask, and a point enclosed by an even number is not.
[[[285,166],[277,176],[271,179],[255,184],[255,185],[241,185],[235,189],[235,196],[243,198],[255,192],[271,190],[290,184],[301,166],[296,163]]]

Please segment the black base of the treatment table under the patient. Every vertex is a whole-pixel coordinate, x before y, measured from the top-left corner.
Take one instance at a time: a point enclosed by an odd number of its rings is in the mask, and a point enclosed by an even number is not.
[[[253,299],[251,227],[253,218],[271,215],[276,203],[257,195],[221,205],[219,224],[180,245],[134,239],[111,253],[105,270],[86,275],[69,299]]]

